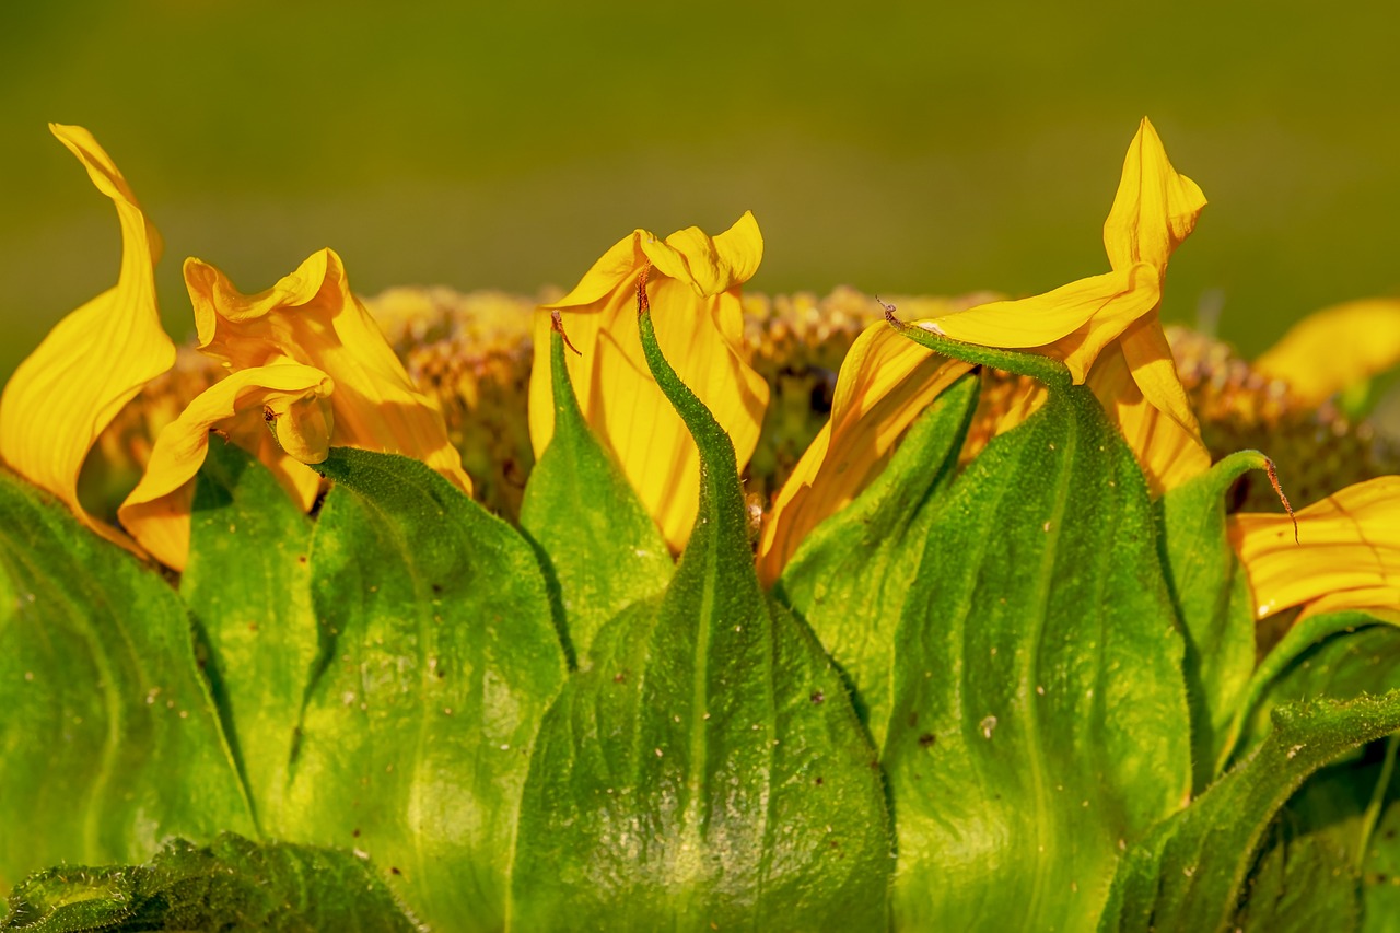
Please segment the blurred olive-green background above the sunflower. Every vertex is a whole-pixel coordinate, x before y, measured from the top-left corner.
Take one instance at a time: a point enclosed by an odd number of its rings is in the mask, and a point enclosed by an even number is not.
[[[260,290],[533,294],[634,227],[752,209],[764,291],[1040,291],[1107,269],[1137,120],[1211,199],[1165,314],[1254,353],[1400,290],[1385,3],[29,3],[0,7],[0,377],[115,282],[90,127],[165,237]],[[99,363],[99,361],[95,361]]]

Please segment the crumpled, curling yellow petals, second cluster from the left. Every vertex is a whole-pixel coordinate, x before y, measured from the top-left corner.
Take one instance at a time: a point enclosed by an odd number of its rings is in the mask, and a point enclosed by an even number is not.
[[[441,410],[414,388],[374,318],[350,293],[333,251],[314,254],[255,296],[239,293],[200,259],[185,262],[185,284],[199,349],[232,374],[161,431],[144,478],[118,510],[122,524],[162,563],[183,567],[190,482],[216,426],[259,454],[304,507],[319,481],[302,464],[325,459],[332,441],[421,459],[470,493],[472,481],[448,441]],[[280,450],[270,444],[265,419]]]

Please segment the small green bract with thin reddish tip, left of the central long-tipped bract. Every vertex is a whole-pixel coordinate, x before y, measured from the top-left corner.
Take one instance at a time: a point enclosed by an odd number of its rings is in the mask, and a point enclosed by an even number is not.
[[[547,556],[568,639],[585,657],[608,619],[665,588],[675,563],[631,483],[588,430],[559,331],[550,333],[550,364],[554,436],[529,475],[521,525]]]

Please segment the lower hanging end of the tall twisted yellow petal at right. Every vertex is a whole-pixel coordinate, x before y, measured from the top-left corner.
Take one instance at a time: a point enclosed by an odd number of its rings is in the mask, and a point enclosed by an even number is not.
[[[1089,388],[1137,457],[1148,489],[1161,496],[1210,469],[1211,455],[1200,434],[1152,405],[1133,377],[1123,350],[1114,346],[1093,364]]]

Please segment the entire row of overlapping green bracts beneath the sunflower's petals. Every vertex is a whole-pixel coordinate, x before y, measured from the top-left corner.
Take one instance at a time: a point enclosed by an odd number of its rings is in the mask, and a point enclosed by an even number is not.
[[[176,593],[0,474],[4,927],[1376,927],[1400,628],[1256,664],[1222,499],[1260,455],[1154,503],[1063,367],[910,336],[1049,398],[959,469],[958,382],[771,593],[650,314],[679,563],[559,333],[521,528],[346,448],[308,521],[216,441]]]

